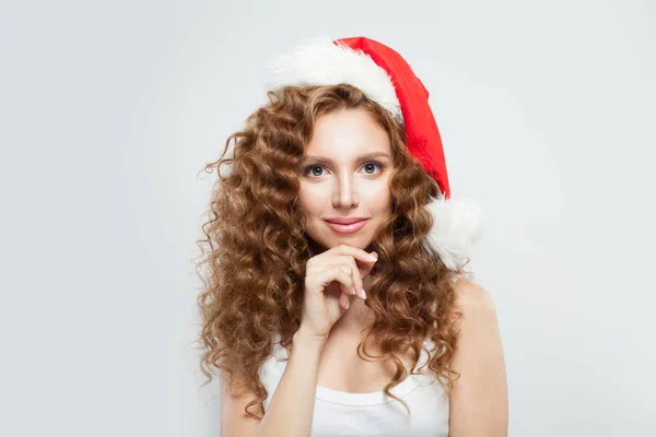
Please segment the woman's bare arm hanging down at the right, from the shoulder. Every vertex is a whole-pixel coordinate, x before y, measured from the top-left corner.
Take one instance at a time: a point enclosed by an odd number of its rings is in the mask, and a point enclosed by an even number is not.
[[[450,368],[460,374],[449,400],[450,437],[505,437],[508,394],[496,310],[490,295],[466,280],[456,284],[465,314]]]

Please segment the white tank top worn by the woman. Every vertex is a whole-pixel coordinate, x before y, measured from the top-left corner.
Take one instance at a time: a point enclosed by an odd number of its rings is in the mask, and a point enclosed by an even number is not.
[[[289,358],[279,341],[280,335],[276,335],[273,355],[259,370],[269,392],[263,401],[265,413],[286,367],[288,362],[281,359]],[[434,343],[426,340],[424,345],[431,350]],[[417,368],[426,357],[425,351],[421,351]],[[410,375],[390,391],[408,404],[411,416],[399,401],[384,391],[349,393],[317,385],[311,437],[448,436],[448,397],[432,375]]]

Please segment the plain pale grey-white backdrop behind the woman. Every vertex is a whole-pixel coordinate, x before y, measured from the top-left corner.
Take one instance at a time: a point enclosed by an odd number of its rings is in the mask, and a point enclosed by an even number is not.
[[[364,35],[485,211],[509,435],[655,436],[655,25],[646,0],[1,2],[0,434],[219,435],[198,174],[276,54]]]

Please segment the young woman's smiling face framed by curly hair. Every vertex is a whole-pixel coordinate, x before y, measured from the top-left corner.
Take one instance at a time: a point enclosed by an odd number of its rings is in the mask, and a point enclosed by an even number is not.
[[[336,110],[316,120],[298,199],[313,252],[340,244],[367,249],[391,214],[393,167],[387,132],[364,109]],[[362,222],[349,228],[328,222],[335,218]]]

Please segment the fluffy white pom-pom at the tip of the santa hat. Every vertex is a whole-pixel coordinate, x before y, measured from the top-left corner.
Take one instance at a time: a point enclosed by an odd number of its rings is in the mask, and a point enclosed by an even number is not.
[[[425,206],[433,214],[426,241],[452,270],[462,267],[469,250],[481,237],[482,214],[473,201],[433,199]]]

